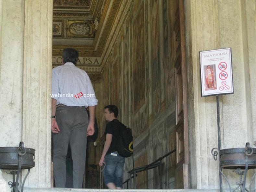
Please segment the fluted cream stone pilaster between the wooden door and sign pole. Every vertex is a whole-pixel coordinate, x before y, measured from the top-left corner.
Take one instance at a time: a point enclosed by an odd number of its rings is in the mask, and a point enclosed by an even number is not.
[[[218,147],[216,97],[201,97],[199,68],[199,51],[218,47],[217,11],[216,1],[185,1],[192,188],[218,188],[218,163],[211,155]]]

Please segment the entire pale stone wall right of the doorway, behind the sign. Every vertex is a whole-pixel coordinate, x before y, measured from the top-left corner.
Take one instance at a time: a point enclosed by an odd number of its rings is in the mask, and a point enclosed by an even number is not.
[[[231,47],[234,94],[220,97],[221,149],[255,141],[255,1],[185,1],[190,184],[218,188],[216,97],[201,97],[199,52]],[[254,114],[254,115],[253,115]],[[253,171],[249,173],[250,181]],[[224,172],[232,186],[239,180]],[[224,181],[224,188],[227,184]],[[249,182],[248,184],[249,185]]]

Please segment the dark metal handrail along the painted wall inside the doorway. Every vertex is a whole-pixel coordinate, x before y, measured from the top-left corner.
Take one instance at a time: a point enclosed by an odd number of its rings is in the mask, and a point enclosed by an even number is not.
[[[175,150],[172,150],[168,153],[166,153],[164,156],[158,158],[157,160],[155,160],[154,162],[148,164],[148,165],[144,165],[144,166],[141,166],[141,167],[137,167],[137,168],[133,168],[131,169],[130,171],[128,171],[128,174],[130,174],[130,177],[129,179],[127,179],[125,182],[123,182],[123,185],[125,183],[127,183],[127,189],[128,189],[128,182],[129,182],[129,188],[131,188],[131,179],[133,178],[133,188],[136,189],[136,177],[137,177],[137,174],[136,173],[139,173],[139,172],[142,172],[142,171],[146,171],[147,172],[147,188],[149,188],[149,185],[148,185],[148,170],[149,169],[153,169],[153,168],[156,168],[156,167],[159,167],[160,170],[161,170],[161,166],[162,166],[162,160],[167,157],[168,155],[172,154],[176,152],[176,149]],[[131,174],[133,174],[133,176],[131,176]],[[135,175],[135,177],[134,177]],[[163,188],[163,183],[162,183],[162,174],[160,174],[160,189]]]

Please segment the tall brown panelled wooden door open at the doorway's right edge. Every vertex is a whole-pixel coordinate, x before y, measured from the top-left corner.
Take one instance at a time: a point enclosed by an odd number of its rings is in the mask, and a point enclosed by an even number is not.
[[[172,58],[176,84],[176,170],[175,188],[189,188],[189,141],[184,1],[172,2]]]

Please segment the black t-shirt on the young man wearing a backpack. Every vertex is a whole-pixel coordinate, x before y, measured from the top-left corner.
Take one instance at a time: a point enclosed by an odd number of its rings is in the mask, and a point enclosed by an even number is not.
[[[112,135],[112,141],[111,141],[110,147],[109,147],[106,155],[108,155],[114,151],[117,151],[116,145],[118,142],[118,137],[120,136],[119,129],[120,129],[121,124],[122,123],[120,121],[118,121],[117,119],[113,119],[112,121],[108,122],[106,125],[105,135],[107,133]]]

